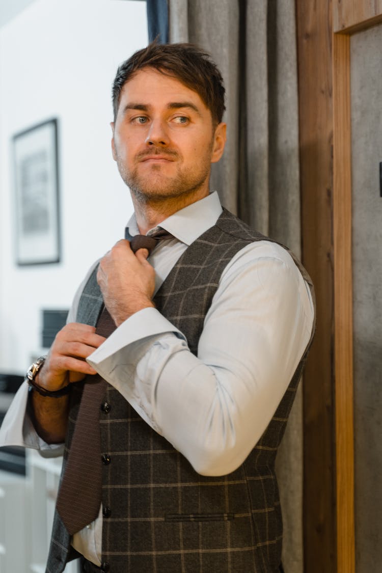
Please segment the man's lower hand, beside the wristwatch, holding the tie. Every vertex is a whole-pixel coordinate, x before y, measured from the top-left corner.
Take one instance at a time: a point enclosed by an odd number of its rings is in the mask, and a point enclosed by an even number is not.
[[[44,366],[37,375],[37,383],[47,390],[60,390],[68,383],[80,382],[86,374],[96,374],[86,358],[105,338],[96,334],[88,324],[69,323],[58,332]]]

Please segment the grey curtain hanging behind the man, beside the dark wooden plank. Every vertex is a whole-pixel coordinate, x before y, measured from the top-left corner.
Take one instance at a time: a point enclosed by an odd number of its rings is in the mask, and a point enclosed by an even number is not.
[[[294,0],[169,0],[170,41],[212,54],[227,91],[227,147],[211,189],[254,229],[300,255]],[[277,458],[283,566],[302,573],[301,384]]]

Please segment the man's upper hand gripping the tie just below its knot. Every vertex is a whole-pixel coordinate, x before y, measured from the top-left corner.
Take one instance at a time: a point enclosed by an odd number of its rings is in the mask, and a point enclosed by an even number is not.
[[[122,239],[100,262],[97,281],[117,326],[135,312],[154,306],[155,270],[147,257],[147,249],[134,254],[129,241]]]

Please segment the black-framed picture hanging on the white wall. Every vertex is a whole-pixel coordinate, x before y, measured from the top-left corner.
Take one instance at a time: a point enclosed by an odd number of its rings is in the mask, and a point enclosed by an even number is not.
[[[16,262],[60,261],[57,119],[13,136]]]

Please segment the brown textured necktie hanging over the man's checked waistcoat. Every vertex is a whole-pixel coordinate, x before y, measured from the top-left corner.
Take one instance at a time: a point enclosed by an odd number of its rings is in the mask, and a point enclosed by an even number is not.
[[[157,241],[174,238],[164,229],[153,236],[136,235],[131,249],[147,249],[149,253]],[[106,307],[97,321],[96,333],[108,337],[116,325]],[[102,457],[100,436],[100,407],[107,382],[99,374],[86,376],[76,426],[65,473],[57,496],[57,511],[70,533],[76,533],[94,521],[99,514],[102,493]]]

